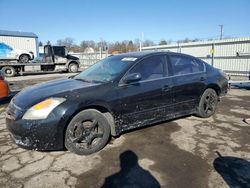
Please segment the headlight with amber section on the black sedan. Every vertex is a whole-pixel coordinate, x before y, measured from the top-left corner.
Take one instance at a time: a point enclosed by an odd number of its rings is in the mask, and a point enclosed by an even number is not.
[[[66,99],[64,98],[49,98],[46,99],[27,110],[24,114],[23,119],[26,120],[38,120],[46,119],[50,112],[57,107],[59,104],[63,103]]]

